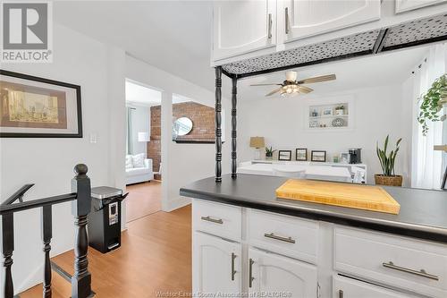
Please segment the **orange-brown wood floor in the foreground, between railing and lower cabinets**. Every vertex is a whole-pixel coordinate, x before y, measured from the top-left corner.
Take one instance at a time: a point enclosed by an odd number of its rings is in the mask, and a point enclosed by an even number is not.
[[[89,248],[89,271],[96,297],[145,298],[157,292],[191,291],[191,208],[156,212],[128,224],[122,247],[102,254]],[[73,252],[52,259],[73,273]],[[41,297],[37,285],[21,298]],[[71,296],[71,285],[53,272],[53,297]]]

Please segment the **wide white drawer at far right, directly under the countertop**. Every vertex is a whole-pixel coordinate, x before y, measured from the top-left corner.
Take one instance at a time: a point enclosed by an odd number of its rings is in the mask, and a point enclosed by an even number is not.
[[[334,268],[434,297],[447,297],[447,246],[336,227]]]

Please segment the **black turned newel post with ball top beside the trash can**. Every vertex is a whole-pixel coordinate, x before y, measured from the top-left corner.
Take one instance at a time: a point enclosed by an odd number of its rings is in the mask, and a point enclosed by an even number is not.
[[[72,276],[72,298],[86,298],[91,295],[91,275],[89,273],[89,236],[87,234],[87,216],[90,212],[91,186],[87,175],[88,167],[80,164],[74,167],[76,176],[72,179],[72,192],[77,199],[72,201],[74,226],[74,274]]]

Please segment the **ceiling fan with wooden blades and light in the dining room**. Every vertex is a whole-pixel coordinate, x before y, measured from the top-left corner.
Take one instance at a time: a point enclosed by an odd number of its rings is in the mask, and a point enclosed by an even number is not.
[[[335,74],[327,74],[297,81],[297,72],[285,72],[285,81],[283,81],[282,84],[253,84],[250,86],[270,86],[270,85],[281,86],[277,89],[274,89],[272,92],[267,93],[266,97],[274,95],[275,93],[278,92],[280,92],[283,97],[292,97],[299,93],[306,94],[314,90],[306,86],[303,86],[303,84],[312,84],[321,81],[333,81],[335,79],[336,79]]]

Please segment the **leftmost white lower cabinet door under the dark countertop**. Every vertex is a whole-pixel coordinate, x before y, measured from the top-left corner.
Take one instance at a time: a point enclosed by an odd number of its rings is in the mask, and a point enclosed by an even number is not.
[[[196,294],[240,294],[241,246],[200,232],[194,233],[192,264]],[[234,295],[228,295],[232,297]],[[236,296],[237,297],[237,296]]]

